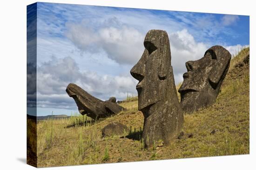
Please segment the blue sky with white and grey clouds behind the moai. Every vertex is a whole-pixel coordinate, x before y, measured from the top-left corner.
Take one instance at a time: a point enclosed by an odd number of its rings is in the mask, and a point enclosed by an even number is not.
[[[76,112],[73,82],[101,100],[137,95],[130,69],[151,29],[168,32],[175,83],[213,45],[249,45],[249,16],[37,3],[37,115]]]

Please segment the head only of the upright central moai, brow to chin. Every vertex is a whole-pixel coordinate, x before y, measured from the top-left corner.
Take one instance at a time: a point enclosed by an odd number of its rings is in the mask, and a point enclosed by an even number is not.
[[[145,50],[131,75],[139,81],[136,86],[139,110],[161,101],[169,90],[166,88],[173,76],[171,52],[166,31],[150,30],[144,40]]]

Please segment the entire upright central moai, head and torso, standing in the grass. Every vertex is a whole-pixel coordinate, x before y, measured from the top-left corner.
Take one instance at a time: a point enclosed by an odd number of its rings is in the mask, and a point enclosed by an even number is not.
[[[146,147],[159,141],[167,145],[182,130],[183,114],[175,88],[168,34],[148,31],[141,59],[131,69],[139,81],[138,109],[144,115],[142,139]]]

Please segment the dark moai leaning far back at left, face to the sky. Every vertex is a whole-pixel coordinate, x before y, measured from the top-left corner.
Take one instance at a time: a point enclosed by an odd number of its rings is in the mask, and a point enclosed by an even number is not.
[[[68,84],[66,92],[69,97],[74,99],[79,113],[82,115],[87,114],[93,119],[106,118],[109,115],[126,110],[113,102],[112,99],[101,101],[73,83]]]

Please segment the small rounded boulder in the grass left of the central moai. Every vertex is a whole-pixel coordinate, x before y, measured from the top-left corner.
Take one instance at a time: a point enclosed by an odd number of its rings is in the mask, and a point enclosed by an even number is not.
[[[122,135],[125,134],[126,132],[128,132],[128,127],[119,122],[110,123],[107,126],[105,126],[101,131],[103,137]]]

